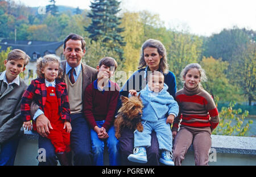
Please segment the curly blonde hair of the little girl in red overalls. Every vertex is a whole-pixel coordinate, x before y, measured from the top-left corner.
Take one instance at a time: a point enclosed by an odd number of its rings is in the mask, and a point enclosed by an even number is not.
[[[60,57],[56,56],[55,54],[47,54],[43,58],[40,57],[38,61],[36,61],[36,74],[38,74],[39,78],[44,78],[44,74],[42,70],[50,63],[56,62],[60,66]],[[59,67],[59,74],[57,75],[56,79],[61,79],[63,77],[63,69]]]

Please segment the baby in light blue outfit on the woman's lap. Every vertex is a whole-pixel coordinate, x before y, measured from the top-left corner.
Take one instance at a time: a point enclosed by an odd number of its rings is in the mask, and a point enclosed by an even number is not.
[[[164,83],[164,75],[153,71],[149,76],[147,86],[140,91],[143,103],[142,124],[143,132],[134,132],[134,152],[128,159],[132,162],[147,163],[145,147],[151,146],[151,132],[156,132],[160,162],[165,165],[174,165],[172,161],[172,132],[170,124],[179,113],[179,106],[167,92],[168,86]],[[129,91],[136,96],[135,90]]]

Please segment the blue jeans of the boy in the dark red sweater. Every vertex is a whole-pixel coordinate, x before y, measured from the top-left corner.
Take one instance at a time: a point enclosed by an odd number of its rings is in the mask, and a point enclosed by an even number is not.
[[[104,124],[104,120],[96,121],[99,128]],[[104,142],[108,146],[109,152],[109,165],[117,166],[120,165],[120,155],[119,155],[119,141],[115,138],[114,126],[110,127],[108,130],[109,138],[106,140],[100,140],[98,134],[91,129],[90,136],[92,140],[92,151],[94,165],[102,166],[104,165]]]

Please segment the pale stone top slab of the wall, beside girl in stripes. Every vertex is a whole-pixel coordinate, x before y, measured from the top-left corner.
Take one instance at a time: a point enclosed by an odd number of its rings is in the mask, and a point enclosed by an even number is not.
[[[212,135],[212,148],[217,153],[256,155],[256,137]],[[189,147],[193,151],[193,146]]]

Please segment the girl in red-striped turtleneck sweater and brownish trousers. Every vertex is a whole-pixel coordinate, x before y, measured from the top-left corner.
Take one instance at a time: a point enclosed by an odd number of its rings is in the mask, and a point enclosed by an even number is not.
[[[207,77],[199,64],[187,65],[180,75],[184,86],[175,95],[180,111],[172,125],[174,163],[181,165],[193,144],[195,164],[208,165],[210,134],[220,121],[218,110],[212,96],[200,84],[207,81]]]

